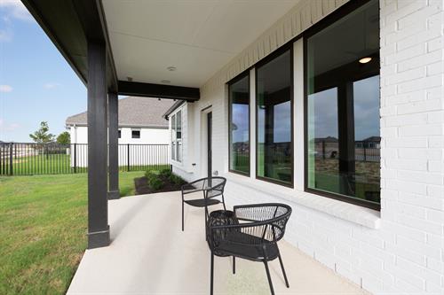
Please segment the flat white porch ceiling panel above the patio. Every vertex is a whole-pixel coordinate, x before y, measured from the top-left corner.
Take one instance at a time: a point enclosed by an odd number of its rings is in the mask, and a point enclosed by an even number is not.
[[[104,0],[118,78],[200,87],[297,2]]]

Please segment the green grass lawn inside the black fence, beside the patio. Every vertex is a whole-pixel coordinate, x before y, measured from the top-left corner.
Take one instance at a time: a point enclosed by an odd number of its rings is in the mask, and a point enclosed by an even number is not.
[[[120,174],[123,196],[133,179]],[[86,248],[87,175],[0,177],[0,294],[63,294]]]

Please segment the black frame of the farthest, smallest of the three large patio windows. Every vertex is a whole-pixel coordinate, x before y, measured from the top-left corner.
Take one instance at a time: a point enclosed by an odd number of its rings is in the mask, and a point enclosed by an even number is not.
[[[249,172],[248,173],[242,173],[241,171],[237,171],[237,170],[233,170],[231,169],[231,121],[232,121],[232,108],[231,108],[231,92],[230,92],[230,86],[233,85],[235,82],[239,82],[242,79],[244,79],[245,77],[247,77],[248,82],[249,82]],[[242,72],[241,74],[238,74],[237,76],[235,76],[232,80],[230,80],[229,82],[227,82],[227,86],[228,86],[228,172],[237,174],[237,175],[242,175],[242,176],[248,176],[250,177],[251,175],[251,86],[250,86],[250,69]]]

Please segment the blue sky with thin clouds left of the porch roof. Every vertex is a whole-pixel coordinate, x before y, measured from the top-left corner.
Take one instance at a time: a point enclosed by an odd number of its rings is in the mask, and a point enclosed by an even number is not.
[[[0,140],[30,142],[42,120],[52,134],[86,110],[86,88],[26,8],[0,0]]]

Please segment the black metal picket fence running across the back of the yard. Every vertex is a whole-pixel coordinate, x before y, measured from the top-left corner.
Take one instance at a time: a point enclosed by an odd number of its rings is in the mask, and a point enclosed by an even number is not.
[[[121,171],[169,168],[168,144],[119,144]],[[0,175],[58,175],[88,171],[88,144],[0,143]]]

